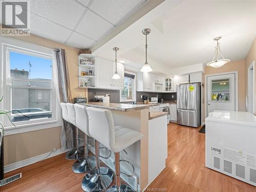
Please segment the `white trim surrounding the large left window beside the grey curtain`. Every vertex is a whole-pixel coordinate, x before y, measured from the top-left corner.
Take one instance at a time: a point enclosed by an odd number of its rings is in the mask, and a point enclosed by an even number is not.
[[[57,83],[57,66],[56,62],[53,58],[53,50],[41,46],[37,46],[34,44],[29,44],[24,41],[20,40],[14,40],[7,37],[0,37],[0,96],[4,96],[5,98],[8,98],[8,82],[7,82],[7,75],[10,73],[5,65],[6,62],[6,48],[10,47],[13,49],[22,49],[22,50],[28,50],[29,52],[32,52],[33,54],[39,54],[40,56],[45,55],[46,57],[51,57],[53,59],[53,89],[52,89],[52,115],[53,117],[51,119],[37,119],[32,121],[26,121],[26,122],[15,122],[14,124],[16,127],[12,125],[8,125],[8,119],[7,117],[0,116],[0,121],[4,122],[5,125],[5,135],[12,135],[12,134],[18,134],[18,133],[24,133],[24,132],[30,132],[30,131],[36,131],[41,129],[49,129],[56,126],[62,125],[62,119],[61,119],[61,110],[59,105],[59,94],[58,94],[58,83]],[[5,101],[5,100],[4,100]],[[1,102],[0,103],[0,109],[10,109],[10,103],[7,102]],[[6,126],[7,125],[7,126]]]

